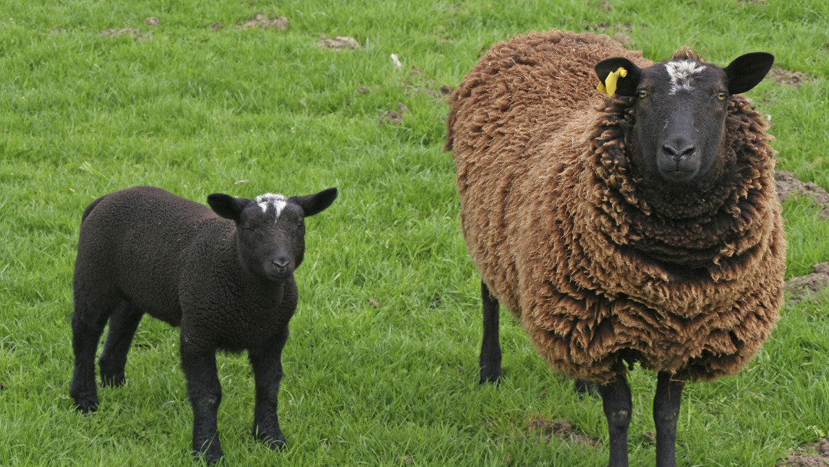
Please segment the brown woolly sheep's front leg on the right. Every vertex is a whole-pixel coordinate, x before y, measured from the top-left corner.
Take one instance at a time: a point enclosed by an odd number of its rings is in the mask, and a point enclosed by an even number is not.
[[[657,467],[676,467],[676,420],[685,382],[660,372],[653,398],[653,421],[657,427]]]

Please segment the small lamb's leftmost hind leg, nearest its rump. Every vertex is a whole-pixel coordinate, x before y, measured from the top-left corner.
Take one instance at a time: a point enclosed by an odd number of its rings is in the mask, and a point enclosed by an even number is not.
[[[104,332],[109,314],[115,307],[114,300],[78,299],[75,289],[75,312],[72,314],[72,351],[75,353],[75,370],[69,394],[75,399],[75,408],[83,413],[98,410],[98,388],[95,387],[95,351]]]

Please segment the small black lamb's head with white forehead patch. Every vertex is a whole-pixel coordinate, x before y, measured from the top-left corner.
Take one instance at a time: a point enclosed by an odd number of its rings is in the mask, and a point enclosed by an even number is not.
[[[207,204],[236,223],[236,245],[242,267],[251,275],[279,282],[293,275],[305,254],[305,222],[331,206],[337,188],[301,197],[267,193],[247,199],[213,193]]]

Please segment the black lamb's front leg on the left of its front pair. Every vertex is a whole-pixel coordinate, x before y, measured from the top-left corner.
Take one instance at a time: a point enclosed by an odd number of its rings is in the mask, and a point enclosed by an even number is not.
[[[187,377],[187,396],[193,406],[193,455],[204,455],[208,463],[223,455],[216,429],[221,402],[221,384],[216,375],[216,348],[201,348],[189,342],[182,330],[182,369]]]

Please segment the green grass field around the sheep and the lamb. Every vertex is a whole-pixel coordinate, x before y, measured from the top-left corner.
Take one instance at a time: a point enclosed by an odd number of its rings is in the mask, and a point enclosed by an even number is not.
[[[287,17],[287,30],[237,27],[258,12]],[[685,43],[723,66],[772,52],[781,70],[805,74],[802,85],[769,79],[748,94],[771,117],[778,168],[829,187],[823,0],[3,2],[0,465],[193,462],[177,331],[166,324],[143,321],[127,383],[101,390],[97,413],[75,413],[68,396],[80,213],[139,184],[200,202],[340,189],[308,221],[297,272],[279,406],[289,449],[252,439],[247,359],[221,354],[228,465],[606,464],[600,401],[575,396],[506,311],[504,380],[478,386],[479,279],[443,152],[441,87],[494,42],[550,27],[623,33],[653,60]],[[110,28],[140,35],[101,34]],[[320,48],[322,34],[361,46]],[[817,208],[797,199],[784,215],[788,277],[829,260]],[[827,299],[788,303],[744,372],[686,389],[681,465],[774,465],[827,436]],[[632,465],[654,463],[655,385],[633,372]],[[599,444],[550,436],[559,419]]]

